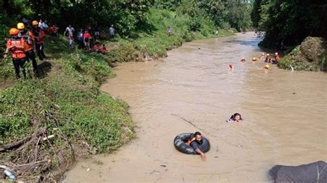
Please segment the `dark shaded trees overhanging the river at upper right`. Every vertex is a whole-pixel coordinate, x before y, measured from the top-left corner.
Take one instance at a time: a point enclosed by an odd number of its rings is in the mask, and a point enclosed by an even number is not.
[[[299,45],[306,36],[327,35],[327,1],[255,0],[253,25],[266,32],[261,45]]]

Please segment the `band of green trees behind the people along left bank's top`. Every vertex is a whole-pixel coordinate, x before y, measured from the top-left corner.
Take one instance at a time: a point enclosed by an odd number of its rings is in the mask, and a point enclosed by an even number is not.
[[[64,28],[69,23],[74,27],[83,28],[89,23],[98,22],[102,27],[112,23],[121,34],[130,34],[146,23],[145,13],[149,8],[159,8],[186,13],[192,23],[201,23],[206,19],[220,28],[242,30],[250,27],[251,3],[247,1],[34,1],[14,0],[3,1],[3,9],[10,16],[18,19],[46,19]],[[197,25],[191,25],[195,30]]]

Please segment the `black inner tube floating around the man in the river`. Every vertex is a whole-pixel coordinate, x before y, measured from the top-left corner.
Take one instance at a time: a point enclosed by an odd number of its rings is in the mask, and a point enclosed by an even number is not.
[[[186,142],[188,142],[188,139],[190,139],[190,135],[191,133],[181,133],[176,136],[174,139],[175,148],[182,153],[197,154],[197,152],[195,152],[192,147],[186,144]],[[204,153],[210,150],[210,142],[208,141],[208,139],[202,137],[202,144],[199,145],[199,149]]]

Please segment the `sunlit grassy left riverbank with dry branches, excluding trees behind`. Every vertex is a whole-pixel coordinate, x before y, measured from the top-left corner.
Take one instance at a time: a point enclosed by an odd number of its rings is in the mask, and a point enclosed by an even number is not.
[[[49,59],[39,63],[34,79],[16,80],[11,61],[1,62],[0,164],[23,180],[53,181],[78,155],[115,151],[135,136],[135,124],[126,103],[99,91],[101,83],[115,75],[112,64],[158,58],[186,41],[232,34],[215,34],[210,23],[190,32],[190,17],[168,10],[151,9],[146,19],[130,37],[105,41],[110,48],[106,55],[70,51],[66,38],[48,38]],[[173,28],[171,36],[168,26]],[[54,138],[46,138],[50,135]],[[23,138],[6,149],[6,144]]]

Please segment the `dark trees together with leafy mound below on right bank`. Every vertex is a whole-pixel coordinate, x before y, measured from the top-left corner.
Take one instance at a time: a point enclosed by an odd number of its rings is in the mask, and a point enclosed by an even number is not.
[[[279,67],[306,71],[327,70],[326,17],[326,1],[308,0],[255,0],[251,14],[253,26],[266,32],[259,45],[291,51]]]

